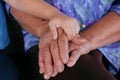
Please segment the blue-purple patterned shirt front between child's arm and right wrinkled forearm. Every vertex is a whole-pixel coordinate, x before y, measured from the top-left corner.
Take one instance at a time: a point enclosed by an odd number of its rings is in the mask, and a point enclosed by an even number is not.
[[[49,0],[58,10],[74,17],[86,27],[98,21],[111,7],[113,0]],[[63,5],[64,4],[64,5]],[[81,28],[83,28],[81,26]]]

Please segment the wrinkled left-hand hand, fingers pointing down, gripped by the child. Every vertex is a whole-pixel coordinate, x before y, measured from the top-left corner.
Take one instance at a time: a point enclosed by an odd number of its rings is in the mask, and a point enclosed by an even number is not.
[[[40,73],[44,73],[45,79],[62,72],[63,63],[67,63],[69,58],[68,40],[62,30],[58,30],[58,33],[58,40],[53,40],[51,34],[47,33],[39,43],[39,67]]]

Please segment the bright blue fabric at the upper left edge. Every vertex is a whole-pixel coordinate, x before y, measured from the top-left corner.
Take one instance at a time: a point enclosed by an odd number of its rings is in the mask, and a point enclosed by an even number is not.
[[[9,44],[7,32],[6,18],[3,8],[3,2],[0,0],[0,50],[4,49]]]

